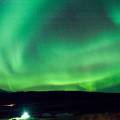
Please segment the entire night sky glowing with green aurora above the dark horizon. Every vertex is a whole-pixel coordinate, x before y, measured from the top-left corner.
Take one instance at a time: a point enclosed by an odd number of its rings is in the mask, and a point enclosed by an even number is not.
[[[120,0],[0,0],[0,89],[120,92]]]

